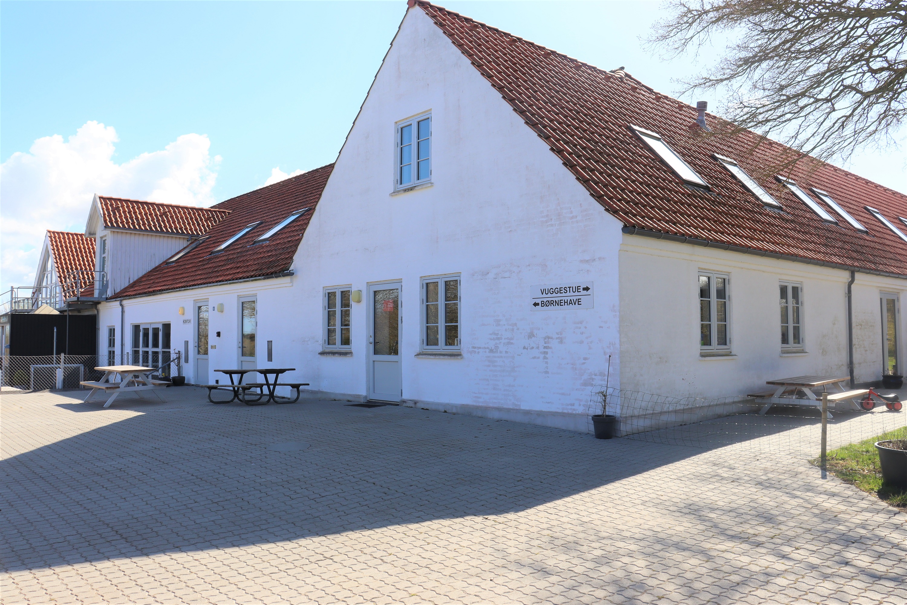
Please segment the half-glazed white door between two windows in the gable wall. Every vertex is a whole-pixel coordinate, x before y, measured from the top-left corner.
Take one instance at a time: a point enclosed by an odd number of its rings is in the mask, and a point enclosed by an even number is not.
[[[403,371],[400,366],[400,282],[368,287],[368,398],[400,401]]]

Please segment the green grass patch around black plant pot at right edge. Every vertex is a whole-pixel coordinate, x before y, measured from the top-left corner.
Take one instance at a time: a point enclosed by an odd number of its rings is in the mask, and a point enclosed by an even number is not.
[[[858,444],[844,445],[827,454],[828,472],[844,482],[872,493],[892,506],[907,507],[907,490],[882,484],[882,467],[875,443],[886,439],[907,439],[907,427],[866,439]],[[819,459],[811,461],[818,465]]]

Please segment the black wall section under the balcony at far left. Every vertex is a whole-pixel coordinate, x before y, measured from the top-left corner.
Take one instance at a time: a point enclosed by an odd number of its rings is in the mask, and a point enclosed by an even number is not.
[[[96,315],[69,316],[67,348],[65,315],[11,313],[9,355],[54,355],[54,327],[57,328],[57,353],[97,355],[97,324]]]

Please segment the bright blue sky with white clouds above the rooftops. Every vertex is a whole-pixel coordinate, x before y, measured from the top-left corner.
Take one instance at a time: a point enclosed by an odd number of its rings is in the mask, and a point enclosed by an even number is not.
[[[704,67],[642,48],[658,2],[442,4],[588,63],[624,65],[664,93]],[[43,229],[83,229],[93,192],[207,205],[264,185],[275,168],[334,161],[405,9],[404,0],[0,3],[4,285],[27,278]],[[907,191],[902,151],[867,152],[849,168]],[[48,184],[59,174],[82,181]]]

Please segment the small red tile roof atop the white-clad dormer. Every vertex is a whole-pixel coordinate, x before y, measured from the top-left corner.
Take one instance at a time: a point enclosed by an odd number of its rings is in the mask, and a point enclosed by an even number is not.
[[[124,200],[98,196],[104,226],[111,229],[130,229],[201,235],[218,224],[229,210],[158,204],[153,201]]]

